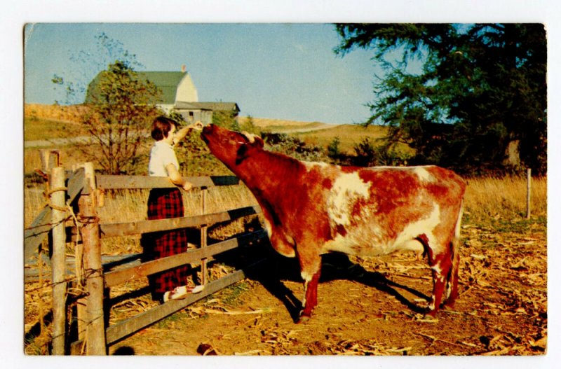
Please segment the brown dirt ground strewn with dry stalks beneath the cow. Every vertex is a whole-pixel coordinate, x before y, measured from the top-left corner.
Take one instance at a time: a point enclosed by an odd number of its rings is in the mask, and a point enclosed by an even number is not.
[[[541,355],[546,352],[546,221],[462,230],[460,297],[421,314],[432,281],[411,254],[323,260],[318,307],[295,323],[303,285],[275,258],[244,281],[113,344],[121,355]]]

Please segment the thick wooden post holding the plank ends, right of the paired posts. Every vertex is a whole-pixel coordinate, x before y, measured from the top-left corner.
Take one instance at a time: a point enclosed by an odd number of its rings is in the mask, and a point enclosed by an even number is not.
[[[100,220],[95,211],[95,172],[93,163],[84,165],[85,183],[78,202],[86,273],[86,354],[105,355],[105,323],[103,316],[103,274],[101,263]]]

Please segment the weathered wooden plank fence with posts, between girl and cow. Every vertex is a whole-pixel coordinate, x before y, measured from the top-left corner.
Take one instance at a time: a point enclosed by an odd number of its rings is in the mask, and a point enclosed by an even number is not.
[[[50,153],[53,154],[53,153]],[[173,314],[187,305],[206,296],[220,291],[231,284],[245,278],[243,270],[235,270],[224,277],[208,281],[208,260],[220,253],[247,246],[266,237],[264,230],[245,232],[222,242],[208,244],[207,230],[210,225],[232,221],[243,216],[259,214],[259,207],[243,207],[215,214],[207,214],[207,190],[214,186],[237,185],[234,176],[206,176],[187,178],[194,187],[201,188],[201,215],[183,218],[160,219],[156,221],[133,221],[125,223],[103,223],[97,216],[100,203],[100,193],[104,190],[117,189],[147,189],[170,188],[173,184],[166,178],[148,176],[100,176],[93,172],[90,163],[74,168],[68,178],[62,167],[58,166],[57,158],[53,162],[49,153],[43,160],[43,167],[53,165],[48,176],[48,206],[41,211],[25,230],[25,260],[29,263],[37,254],[39,246],[48,239],[53,286],[53,354],[88,355],[107,354],[107,347],[123,337],[127,337],[160,319]],[[70,214],[70,215],[69,215]],[[67,232],[65,223],[74,220],[72,232]],[[77,228],[77,229],[76,229]],[[179,228],[198,228],[201,239],[196,249],[187,252],[139,263],[140,255],[119,260],[119,263],[102,263],[101,239],[105,237],[123,237],[141,235],[147,232],[174,230]],[[81,275],[69,279],[67,272],[68,260],[65,259],[65,247],[68,234],[79,235],[80,242],[75,242],[76,255],[81,255],[83,265]],[[47,237],[51,235],[52,237]],[[190,240],[191,242],[191,240]],[[132,263],[130,263],[132,262]],[[119,268],[110,265],[121,264]],[[123,265],[124,264],[124,265]],[[119,323],[109,326],[106,311],[104,311],[104,297],[109,288],[124,284],[133,279],[146,278],[150,274],[168,270],[172,267],[190,264],[201,267],[201,284],[205,286],[201,293],[188,295],[182,300],[170,300],[162,305],[138,314]],[[78,273],[76,273],[78,274]],[[70,325],[67,316],[67,288],[78,285],[85,291],[76,301],[77,340],[65,342],[70,335],[66,331]],[[72,317],[70,317],[72,319]]]

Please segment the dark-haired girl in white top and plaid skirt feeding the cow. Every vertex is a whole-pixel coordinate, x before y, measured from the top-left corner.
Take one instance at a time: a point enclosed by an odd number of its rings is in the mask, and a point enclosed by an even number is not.
[[[174,120],[159,116],[152,123],[151,136],[156,142],[150,151],[148,174],[167,176],[170,181],[184,190],[193,186],[181,176],[179,162],[173,147],[191,130],[201,130],[201,122],[183,127],[176,132]],[[153,188],[148,197],[148,219],[177,218],[184,216],[182,194],[179,188]],[[144,259],[154,260],[187,251],[187,232],[184,229],[152,232],[143,235]],[[153,300],[166,302],[182,298],[192,292],[185,286],[189,275],[189,265],[182,265],[148,277]]]

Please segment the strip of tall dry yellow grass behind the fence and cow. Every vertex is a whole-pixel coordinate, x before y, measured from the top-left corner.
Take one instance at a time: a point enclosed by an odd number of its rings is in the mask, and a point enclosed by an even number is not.
[[[492,221],[509,222],[511,219],[523,219],[526,211],[526,179],[509,176],[497,178],[468,179],[464,218],[473,223]],[[104,206],[97,211],[104,223],[140,221],[146,218],[148,190],[119,190],[111,193]],[[184,192],[185,215],[200,214],[200,191]],[[25,227],[45,206],[46,199],[41,186],[24,189]],[[255,197],[245,186],[227,186],[211,188],[208,191],[208,212],[214,213],[237,207],[257,204]],[[547,180],[532,181],[532,216],[547,217]],[[140,252],[135,248],[127,251]]]

